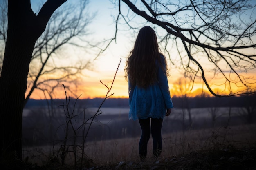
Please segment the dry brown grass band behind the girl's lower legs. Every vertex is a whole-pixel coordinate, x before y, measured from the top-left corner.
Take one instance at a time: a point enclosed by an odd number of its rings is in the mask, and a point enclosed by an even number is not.
[[[184,135],[184,136],[183,136]],[[184,137],[184,138],[183,138]],[[162,135],[161,159],[183,155],[196,150],[204,150],[218,145],[256,146],[256,125],[229,126],[227,128],[209,128],[171,132]],[[139,137],[90,141],[86,143],[85,153],[98,165],[120,161],[139,161]],[[152,140],[148,144],[148,159],[151,155]],[[33,163],[42,163],[52,152],[52,146],[24,148],[24,157],[33,157]],[[70,155],[72,158],[72,155]],[[70,163],[72,159],[69,158]]]

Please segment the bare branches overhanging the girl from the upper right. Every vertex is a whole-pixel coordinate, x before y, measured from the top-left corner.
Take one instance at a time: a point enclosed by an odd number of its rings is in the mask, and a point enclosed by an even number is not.
[[[256,70],[255,4],[249,0],[113,3],[119,7],[117,29],[119,24],[135,31],[145,24],[153,25],[171,63],[193,81],[201,79],[214,96],[224,95],[216,93],[213,85],[228,89],[225,96],[245,94],[248,89],[255,93],[256,79],[246,74]]]

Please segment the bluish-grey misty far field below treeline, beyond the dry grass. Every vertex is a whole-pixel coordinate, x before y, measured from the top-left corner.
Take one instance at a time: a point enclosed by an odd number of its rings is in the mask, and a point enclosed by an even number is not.
[[[95,110],[96,108],[87,108],[85,111],[76,110],[79,114],[73,120],[74,128],[83,123],[83,115],[85,119],[89,119]],[[86,141],[140,137],[139,122],[128,120],[128,110],[128,108],[101,108],[102,114],[94,119]],[[207,129],[247,124],[243,108],[194,108],[190,110],[190,115],[191,121],[186,109],[174,108],[171,115],[164,118],[162,134],[180,134],[183,130],[203,132]],[[256,122],[256,118],[253,118]],[[58,108],[51,114],[47,113],[47,110],[38,108],[26,110],[25,117],[23,117],[23,145],[45,146],[52,144],[54,140],[62,141],[65,137],[65,127],[66,116],[62,109]]]

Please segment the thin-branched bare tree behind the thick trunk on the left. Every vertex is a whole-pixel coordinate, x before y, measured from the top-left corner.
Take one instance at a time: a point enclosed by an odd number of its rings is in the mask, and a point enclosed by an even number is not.
[[[7,0],[3,2],[7,2]],[[56,88],[61,88],[61,84],[65,83],[67,89],[69,89],[71,84],[76,86],[81,71],[88,68],[90,62],[85,59],[72,63],[73,60],[69,59],[65,62],[63,57],[68,52],[65,50],[65,47],[73,49],[73,51],[74,48],[80,48],[79,50],[81,48],[83,48],[82,50],[85,49],[86,42],[81,40],[81,38],[88,34],[86,26],[92,20],[92,17],[86,12],[87,4],[88,1],[83,1],[79,8],[75,4],[68,4],[53,13],[44,33],[36,41],[32,53],[24,105],[35,89],[42,91],[45,97],[52,98]],[[1,31],[1,43],[5,43],[6,39],[4,37],[7,34],[7,3],[1,5],[1,8],[5,9],[1,15],[2,24],[0,27],[3,30]],[[74,13],[74,10],[76,13]],[[4,53],[4,49],[1,51]],[[72,54],[70,53],[70,55]],[[76,54],[73,54],[72,57],[74,55]],[[3,55],[0,58],[3,59]]]

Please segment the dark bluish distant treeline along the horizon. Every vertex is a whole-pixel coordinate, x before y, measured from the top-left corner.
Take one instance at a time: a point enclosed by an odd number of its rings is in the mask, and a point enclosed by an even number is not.
[[[255,107],[256,95],[246,96],[233,96],[233,97],[173,97],[173,105],[175,108],[207,108],[207,107]],[[99,107],[103,98],[94,99],[70,99],[70,104],[86,107]],[[122,107],[128,108],[128,98],[108,98],[104,102],[102,107]],[[36,100],[29,99],[25,108],[33,106],[47,106],[47,105],[63,105],[65,99],[53,99],[53,100]]]

